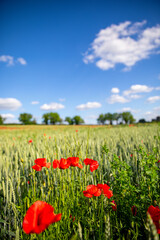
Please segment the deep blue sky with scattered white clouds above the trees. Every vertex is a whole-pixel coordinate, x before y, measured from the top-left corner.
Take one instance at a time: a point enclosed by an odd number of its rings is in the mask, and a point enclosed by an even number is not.
[[[0,115],[160,115],[159,0],[1,0]]]

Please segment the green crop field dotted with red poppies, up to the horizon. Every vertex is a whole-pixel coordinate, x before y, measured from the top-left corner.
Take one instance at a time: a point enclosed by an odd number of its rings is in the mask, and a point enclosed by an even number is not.
[[[159,145],[158,124],[1,126],[0,239],[158,240]]]

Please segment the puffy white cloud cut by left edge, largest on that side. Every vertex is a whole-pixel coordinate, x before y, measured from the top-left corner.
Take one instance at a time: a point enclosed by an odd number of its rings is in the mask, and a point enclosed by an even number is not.
[[[22,106],[22,103],[16,98],[0,98],[0,110],[16,110]]]

